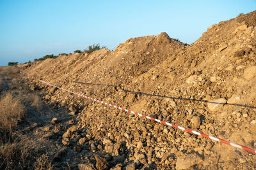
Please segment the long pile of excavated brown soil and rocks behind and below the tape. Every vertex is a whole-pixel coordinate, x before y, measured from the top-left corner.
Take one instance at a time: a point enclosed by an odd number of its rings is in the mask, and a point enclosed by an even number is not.
[[[45,103],[76,115],[63,145],[89,150],[79,168],[253,169],[256,155],[134,117],[86,94],[182,127],[256,148],[256,11],[211,25],[191,45],[131,38],[114,51],[60,55],[24,68]],[[218,104],[220,103],[220,104]]]

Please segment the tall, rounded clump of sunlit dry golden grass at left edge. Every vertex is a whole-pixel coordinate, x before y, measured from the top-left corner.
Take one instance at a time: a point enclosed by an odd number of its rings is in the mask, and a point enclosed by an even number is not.
[[[13,97],[10,92],[1,97],[0,101],[0,129],[12,131],[21,118],[25,116],[25,106]]]

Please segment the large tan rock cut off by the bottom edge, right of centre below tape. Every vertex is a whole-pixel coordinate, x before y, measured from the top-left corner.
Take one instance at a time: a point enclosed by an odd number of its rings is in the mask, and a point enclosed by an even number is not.
[[[176,169],[188,169],[202,161],[202,158],[198,157],[198,155],[191,153],[177,158]]]

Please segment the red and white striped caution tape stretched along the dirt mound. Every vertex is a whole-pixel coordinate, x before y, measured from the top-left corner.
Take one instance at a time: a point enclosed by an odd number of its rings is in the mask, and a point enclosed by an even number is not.
[[[42,81],[42,80],[40,80],[40,81]],[[218,141],[218,142],[220,142],[220,143],[225,143],[225,144],[227,144],[227,145],[234,146],[234,147],[236,147],[236,148],[239,148],[239,149],[242,149],[242,150],[246,150],[246,151],[248,151],[248,152],[256,153],[256,150],[255,150],[255,149],[249,148],[249,147],[247,147],[247,146],[239,145],[239,144],[237,144],[237,143],[233,143],[233,142],[227,141],[227,140],[225,140],[225,139],[221,139],[221,138],[216,138],[216,137],[214,137],[214,136],[210,136],[210,135],[207,135],[207,134],[203,134],[203,133],[201,133],[201,132],[196,132],[196,131],[193,131],[193,130],[191,130],[191,129],[187,129],[187,128],[184,128],[184,127],[180,127],[179,125],[170,124],[170,123],[168,123],[168,122],[164,122],[164,121],[158,120],[158,119],[156,119],[156,118],[148,117],[148,116],[146,116],[146,115],[142,115],[142,114],[140,114],[140,113],[136,113],[136,112],[131,111],[131,110],[127,110],[127,109],[124,109],[124,108],[120,108],[120,107],[115,106],[115,105],[113,105],[113,104],[109,104],[109,103],[105,103],[105,102],[103,102],[103,101],[99,101],[99,100],[97,100],[97,99],[93,99],[92,97],[84,96],[83,94],[78,94],[78,93],[76,93],[76,92],[72,92],[72,91],[70,91],[70,90],[63,89],[63,88],[61,88],[61,87],[58,87],[58,86],[56,86],[56,85],[52,85],[52,84],[47,83],[47,82],[45,82],[45,81],[42,81],[42,82],[45,83],[45,84],[47,84],[47,85],[50,85],[50,86],[52,86],[52,87],[56,87],[56,88],[58,88],[58,89],[65,90],[66,92],[70,92],[70,93],[72,93],[72,94],[76,94],[77,96],[85,97],[85,98],[87,98],[87,99],[91,99],[92,101],[97,101],[97,102],[99,102],[99,103],[106,104],[106,105],[108,105],[108,106],[112,106],[113,108],[116,108],[116,109],[118,109],[118,110],[127,111],[127,112],[129,112],[129,113],[134,114],[134,115],[138,115],[138,116],[140,116],[140,117],[145,117],[145,118],[148,118],[148,119],[150,119],[150,120],[154,120],[154,121],[159,122],[159,123],[164,124],[164,125],[170,125],[170,126],[172,126],[172,127],[175,127],[175,128],[177,128],[177,129],[180,129],[180,130],[182,130],[182,131],[186,131],[186,132],[189,132],[189,133],[192,133],[192,134],[196,134],[196,135],[198,135],[198,136],[203,136],[203,137],[205,137],[205,138],[212,139],[213,141]]]

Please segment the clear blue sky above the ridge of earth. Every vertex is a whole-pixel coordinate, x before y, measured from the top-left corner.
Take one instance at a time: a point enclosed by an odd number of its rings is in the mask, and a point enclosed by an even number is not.
[[[250,1],[0,0],[0,66],[160,32],[193,43],[212,24],[256,10]]]

